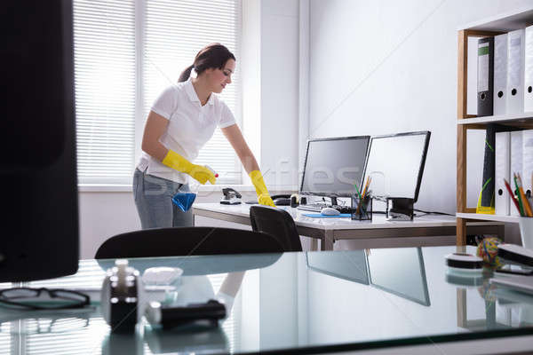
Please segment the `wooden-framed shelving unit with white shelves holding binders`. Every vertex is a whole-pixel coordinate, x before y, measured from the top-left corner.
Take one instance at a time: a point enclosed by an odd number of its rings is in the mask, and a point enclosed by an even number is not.
[[[533,112],[476,117],[466,114],[468,37],[497,36],[533,24],[533,8],[507,12],[487,20],[477,21],[458,29],[457,51],[457,246],[466,243],[466,222],[485,220],[518,223],[519,217],[481,215],[466,206],[466,132],[485,130],[487,124],[498,123],[514,129],[533,129]]]

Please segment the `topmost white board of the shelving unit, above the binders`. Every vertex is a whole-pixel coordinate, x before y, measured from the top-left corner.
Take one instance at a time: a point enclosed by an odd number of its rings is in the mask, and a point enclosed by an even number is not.
[[[478,20],[457,28],[478,31],[509,32],[533,24],[533,9],[529,6],[513,12],[505,12],[489,19]]]

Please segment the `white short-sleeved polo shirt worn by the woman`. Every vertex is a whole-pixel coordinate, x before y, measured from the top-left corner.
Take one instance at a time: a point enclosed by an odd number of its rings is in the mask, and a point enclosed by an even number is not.
[[[215,94],[202,106],[196,95],[191,78],[166,88],[151,108],[169,124],[159,141],[163,146],[194,162],[203,145],[212,137],[217,126],[235,124],[235,117]],[[142,152],[137,168],[155,177],[163,177],[187,184],[188,175],[173,170],[151,155]]]

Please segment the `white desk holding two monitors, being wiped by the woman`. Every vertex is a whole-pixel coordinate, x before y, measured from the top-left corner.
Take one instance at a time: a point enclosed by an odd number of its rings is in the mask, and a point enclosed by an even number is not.
[[[195,216],[209,217],[241,225],[250,224],[250,206],[222,205],[220,203],[195,203]],[[384,215],[374,214],[372,221],[353,221],[350,218],[312,218],[304,213],[285,209],[294,218],[300,235],[321,241],[322,250],[333,250],[333,243],[340,240],[356,240],[361,248],[384,248],[394,239],[394,247],[418,247],[427,245],[455,245],[456,217],[426,215],[415,217],[413,221],[387,221]],[[500,222],[469,222],[468,234],[497,234],[505,237],[505,225]],[[437,237],[440,238],[437,241]],[[390,245],[388,245],[390,248]]]

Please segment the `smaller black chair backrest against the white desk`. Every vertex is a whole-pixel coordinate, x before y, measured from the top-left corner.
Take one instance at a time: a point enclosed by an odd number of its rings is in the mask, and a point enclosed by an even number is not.
[[[302,251],[302,243],[294,219],[289,212],[266,206],[251,206],[251,228],[256,232],[273,235],[283,251]]]

